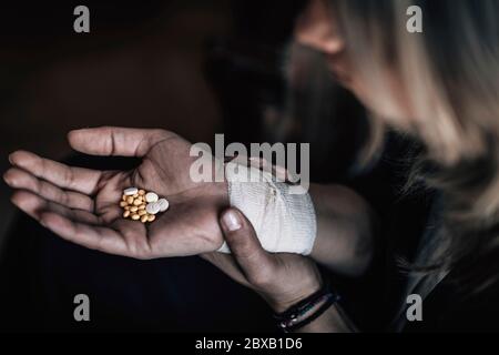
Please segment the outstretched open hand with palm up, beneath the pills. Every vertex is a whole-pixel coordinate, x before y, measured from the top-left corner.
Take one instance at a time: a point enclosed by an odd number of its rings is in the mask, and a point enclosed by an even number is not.
[[[74,168],[18,151],[6,182],[12,202],[63,239],[102,252],[153,258],[217,250],[223,242],[220,211],[228,205],[224,183],[193,182],[191,143],[163,130],[98,128],[72,131],[77,151],[142,158],[132,171]],[[170,209],[143,224],[122,217],[124,189],[154,191]]]

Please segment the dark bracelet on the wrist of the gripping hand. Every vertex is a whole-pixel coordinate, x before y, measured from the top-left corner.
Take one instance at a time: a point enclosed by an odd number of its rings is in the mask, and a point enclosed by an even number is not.
[[[283,313],[275,314],[274,318],[277,321],[277,326],[284,333],[291,333],[318,318],[327,308],[340,300],[339,295],[333,293],[327,285],[312,294],[307,298],[296,303]],[[313,314],[298,321],[302,316],[307,314],[316,305],[322,304]]]

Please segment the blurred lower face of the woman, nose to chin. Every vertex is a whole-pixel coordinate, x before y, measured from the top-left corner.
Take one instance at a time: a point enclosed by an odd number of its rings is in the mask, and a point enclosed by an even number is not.
[[[383,82],[389,92],[380,97],[377,92],[379,90],[367,84],[355,70],[338,23],[327,7],[327,0],[309,0],[296,22],[295,40],[323,52],[338,83],[350,90],[366,108],[395,125],[404,126],[404,121],[410,119],[407,94],[395,73],[388,69],[383,70]]]

